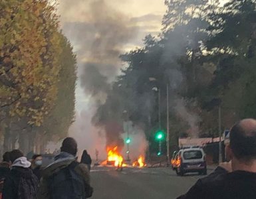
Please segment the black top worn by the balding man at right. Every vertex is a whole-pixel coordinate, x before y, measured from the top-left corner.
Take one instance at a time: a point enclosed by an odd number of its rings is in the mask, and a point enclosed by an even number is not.
[[[220,174],[215,180],[196,183],[182,199],[254,199],[256,173],[237,170]]]

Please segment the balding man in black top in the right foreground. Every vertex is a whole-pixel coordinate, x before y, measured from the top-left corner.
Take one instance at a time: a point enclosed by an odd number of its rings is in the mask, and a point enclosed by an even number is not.
[[[193,186],[182,199],[256,198],[256,120],[243,119],[231,128],[226,147],[231,172]]]

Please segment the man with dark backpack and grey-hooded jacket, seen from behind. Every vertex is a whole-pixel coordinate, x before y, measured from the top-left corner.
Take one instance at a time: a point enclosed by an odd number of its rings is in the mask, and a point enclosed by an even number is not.
[[[76,153],[76,141],[72,137],[64,139],[61,153],[43,170],[39,198],[84,199],[92,196],[88,168],[76,161]]]

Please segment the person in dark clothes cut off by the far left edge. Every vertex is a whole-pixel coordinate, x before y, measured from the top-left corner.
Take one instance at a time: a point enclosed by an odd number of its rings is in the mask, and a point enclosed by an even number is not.
[[[7,151],[3,154],[3,161],[0,163],[0,199],[3,198],[3,184],[10,172],[10,153]]]

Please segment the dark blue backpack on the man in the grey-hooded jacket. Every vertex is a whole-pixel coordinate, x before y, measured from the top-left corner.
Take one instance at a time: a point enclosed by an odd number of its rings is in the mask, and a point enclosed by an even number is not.
[[[51,199],[85,199],[86,186],[82,176],[79,176],[74,168],[78,165],[76,161],[65,168],[61,168],[47,179],[49,195]],[[87,196],[88,197],[88,196]]]

